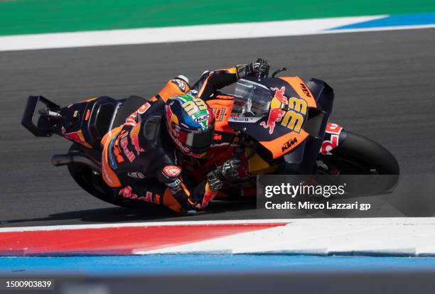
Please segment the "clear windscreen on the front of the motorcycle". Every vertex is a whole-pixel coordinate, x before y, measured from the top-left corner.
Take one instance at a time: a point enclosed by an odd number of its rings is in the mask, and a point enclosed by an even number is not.
[[[235,87],[233,116],[261,117],[269,111],[272,91],[264,85],[239,80]]]

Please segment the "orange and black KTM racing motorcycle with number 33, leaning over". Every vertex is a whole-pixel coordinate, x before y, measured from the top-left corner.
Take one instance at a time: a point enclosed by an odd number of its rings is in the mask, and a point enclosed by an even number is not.
[[[262,174],[399,174],[397,160],[379,143],[329,121],[333,89],[322,80],[246,77],[234,94],[217,93],[207,103],[215,115],[213,145],[205,158],[180,155],[184,177],[200,183],[216,165],[242,160],[240,179],[226,183],[216,199],[255,199]],[[144,205],[117,198],[101,175],[101,139],[124,123],[146,99],[88,99],[60,107],[42,96],[28,98],[22,124],[35,136],[58,134],[73,141],[52,158],[68,165],[74,180],[91,195],[122,207]]]

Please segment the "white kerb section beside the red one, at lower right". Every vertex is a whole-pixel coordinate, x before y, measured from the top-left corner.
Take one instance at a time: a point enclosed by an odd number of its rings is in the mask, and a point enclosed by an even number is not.
[[[293,219],[282,227],[134,254],[435,255],[435,219]]]

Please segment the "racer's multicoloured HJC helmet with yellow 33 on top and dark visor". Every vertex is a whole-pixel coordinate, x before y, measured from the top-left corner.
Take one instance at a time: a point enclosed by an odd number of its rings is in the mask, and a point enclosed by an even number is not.
[[[166,126],[172,140],[188,156],[205,156],[213,142],[215,118],[203,99],[183,94],[168,99]]]

